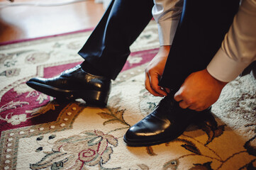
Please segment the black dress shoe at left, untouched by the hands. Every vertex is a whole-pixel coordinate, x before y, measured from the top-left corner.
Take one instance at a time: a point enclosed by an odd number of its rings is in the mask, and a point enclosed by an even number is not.
[[[32,78],[26,84],[56,98],[82,98],[89,104],[106,106],[111,91],[111,79],[84,72],[80,65],[50,79]]]

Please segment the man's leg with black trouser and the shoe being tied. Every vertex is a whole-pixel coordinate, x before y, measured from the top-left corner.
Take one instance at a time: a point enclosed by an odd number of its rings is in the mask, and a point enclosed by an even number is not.
[[[131,127],[124,136],[130,146],[156,145],[182,135],[195,120],[209,115],[211,108],[197,112],[182,109],[174,93],[192,72],[205,69],[221,47],[224,35],[238,11],[239,0],[185,0],[160,86],[172,92],[155,111]]]

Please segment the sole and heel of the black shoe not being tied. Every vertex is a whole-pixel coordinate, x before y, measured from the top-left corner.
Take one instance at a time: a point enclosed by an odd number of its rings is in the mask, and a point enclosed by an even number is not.
[[[84,91],[70,91],[58,89],[54,86],[49,86],[46,84],[40,84],[34,81],[26,82],[28,86],[36,91],[40,91],[43,94],[52,96],[55,98],[74,100],[77,98],[82,98],[87,104],[104,107],[108,101],[109,93],[103,91],[93,91],[93,90],[84,90]]]

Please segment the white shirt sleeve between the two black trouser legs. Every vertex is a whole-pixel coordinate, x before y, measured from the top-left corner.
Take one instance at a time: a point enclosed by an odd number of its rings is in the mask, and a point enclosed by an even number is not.
[[[154,0],[154,3],[152,16],[157,21],[160,45],[172,45],[182,13],[183,0]]]

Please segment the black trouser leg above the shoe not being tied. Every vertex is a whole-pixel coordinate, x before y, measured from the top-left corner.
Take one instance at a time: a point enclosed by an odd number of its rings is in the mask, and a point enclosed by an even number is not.
[[[152,18],[152,0],[113,0],[79,51],[103,76],[116,79],[130,55],[130,45]]]

